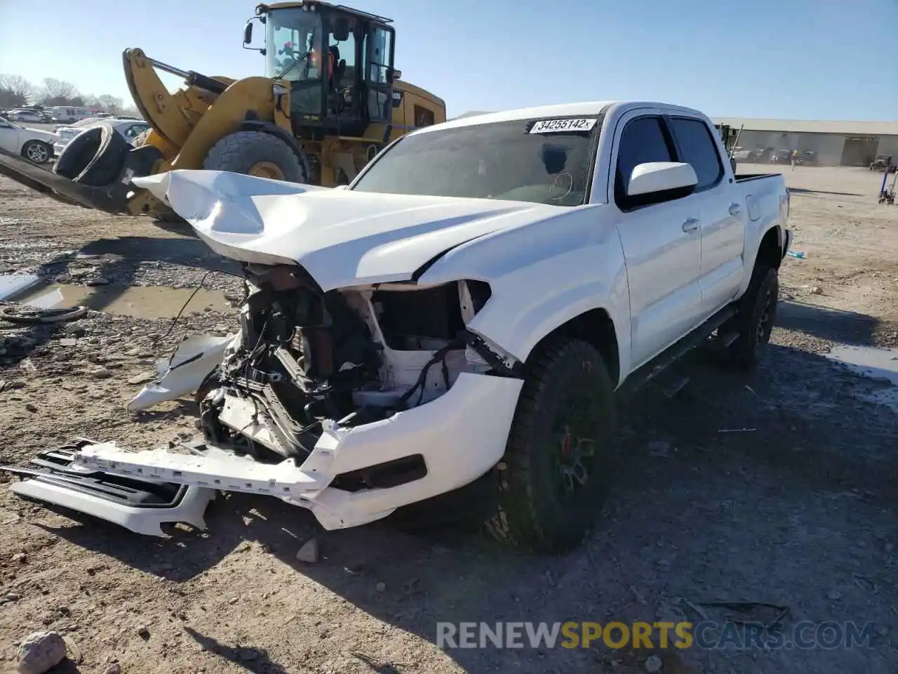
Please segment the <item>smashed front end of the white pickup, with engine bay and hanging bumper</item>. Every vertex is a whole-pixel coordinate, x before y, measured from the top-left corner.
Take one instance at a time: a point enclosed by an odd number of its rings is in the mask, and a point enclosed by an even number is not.
[[[180,212],[197,217],[191,208]],[[220,240],[233,239],[225,229]],[[259,493],[335,529],[497,465],[523,379],[470,328],[488,282],[420,283],[418,268],[322,288],[299,263],[260,259],[242,261],[239,333],[194,382],[201,440],[140,451],[82,441],[13,468],[24,478],[13,492],[155,535],[164,522],[204,527],[216,490]]]

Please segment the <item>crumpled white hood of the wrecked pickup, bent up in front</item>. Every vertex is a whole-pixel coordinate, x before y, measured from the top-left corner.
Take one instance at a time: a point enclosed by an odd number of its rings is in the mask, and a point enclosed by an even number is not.
[[[325,292],[408,280],[456,245],[558,213],[542,204],[334,190],[223,171],[133,182],[171,206],[216,253],[298,263]]]

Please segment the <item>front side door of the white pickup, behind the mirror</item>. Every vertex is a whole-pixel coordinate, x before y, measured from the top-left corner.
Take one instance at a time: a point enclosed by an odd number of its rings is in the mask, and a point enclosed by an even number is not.
[[[665,350],[700,322],[700,212],[691,197],[637,206],[627,197],[638,164],[675,161],[660,115],[633,111],[617,125],[612,195],[627,264],[633,367]]]

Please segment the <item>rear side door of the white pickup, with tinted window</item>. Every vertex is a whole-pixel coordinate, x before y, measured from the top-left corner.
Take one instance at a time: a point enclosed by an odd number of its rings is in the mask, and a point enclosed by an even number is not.
[[[708,124],[695,117],[668,118],[677,158],[691,164],[699,184],[690,197],[701,218],[701,302],[710,316],[733,299],[743,278],[745,218],[742,192],[731,182]]]

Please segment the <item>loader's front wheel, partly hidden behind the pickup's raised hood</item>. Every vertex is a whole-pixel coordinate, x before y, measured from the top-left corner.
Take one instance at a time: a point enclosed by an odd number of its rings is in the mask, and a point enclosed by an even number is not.
[[[219,140],[203,162],[208,171],[231,171],[286,182],[309,182],[305,157],[264,131],[235,131]]]

